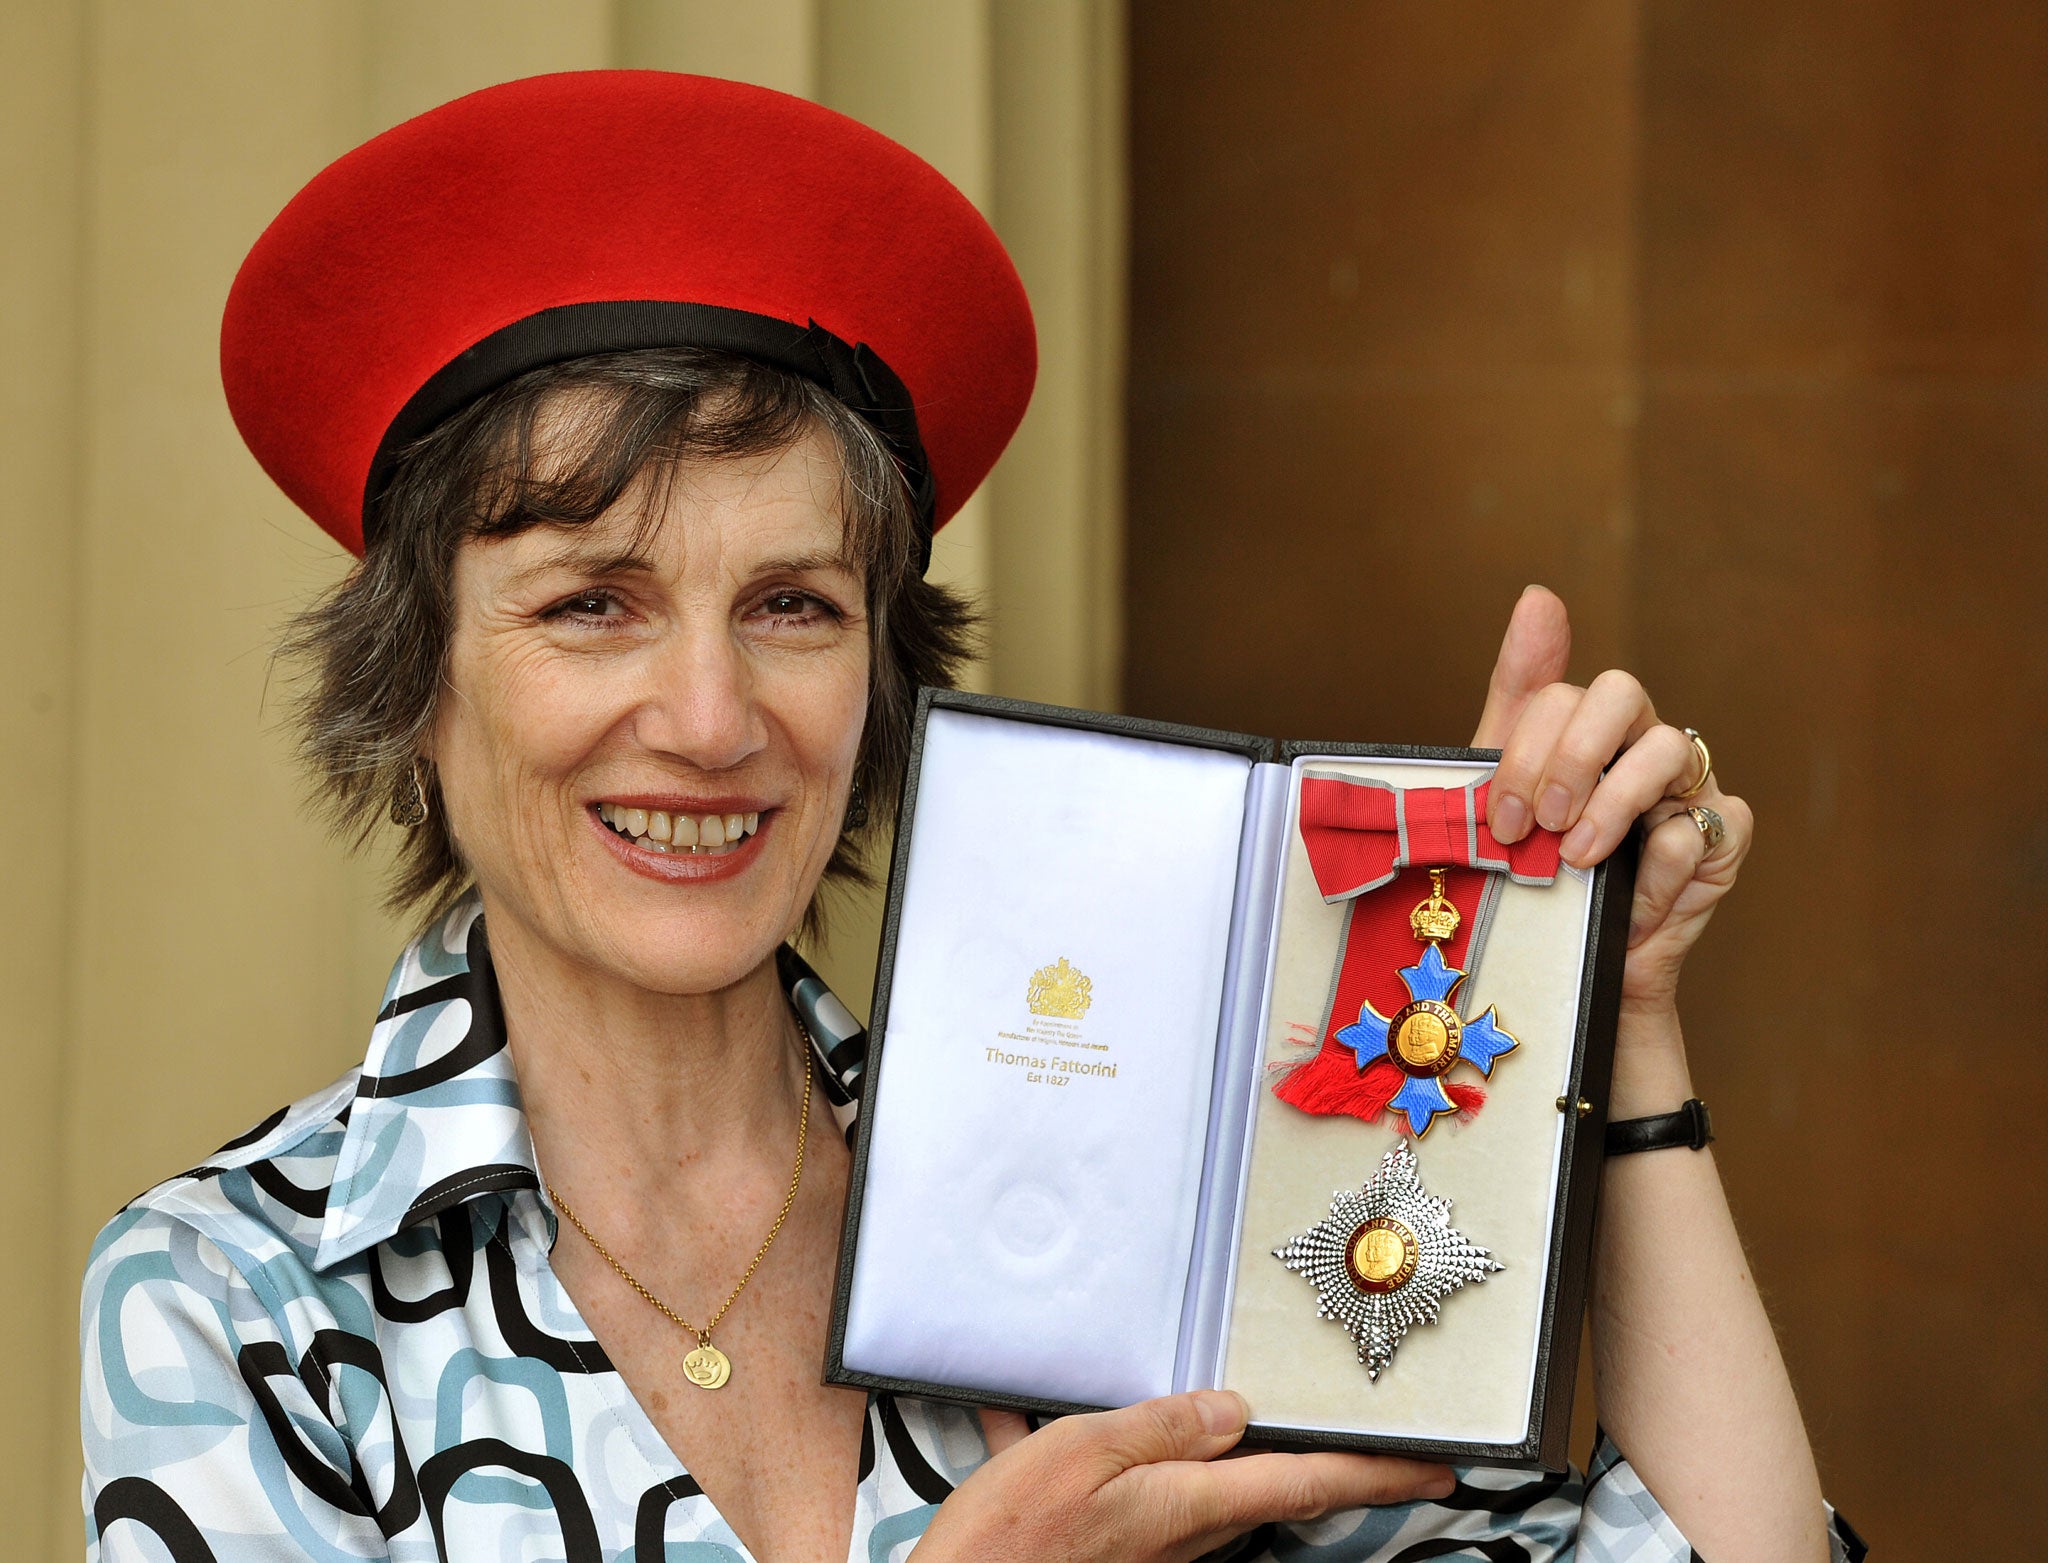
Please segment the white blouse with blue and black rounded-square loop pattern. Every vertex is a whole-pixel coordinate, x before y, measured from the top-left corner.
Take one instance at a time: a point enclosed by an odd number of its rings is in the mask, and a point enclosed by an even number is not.
[[[864,1037],[803,961],[780,969],[850,1125]],[[360,1069],[100,1233],[80,1325],[88,1557],[748,1559],[578,1317],[553,1241],[471,899],[399,957]],[[971,1411],[874,1395],[852,1563],[903,1559],[985,1459]],[[1612,1448],[1589,1483],[1468,1473],[1440,1504],[1227,1551],[1452,1555],[1692,1551]]]

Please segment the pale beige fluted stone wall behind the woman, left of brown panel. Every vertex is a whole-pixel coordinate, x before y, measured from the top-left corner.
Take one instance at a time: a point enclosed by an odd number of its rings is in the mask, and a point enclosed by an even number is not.
[[[266,651],[342,561],[244,453],[215,330],[324,162],[543,70],[819,96],[979,201],[1038,305],[1040,393],[938,567],[989,688],[1116,688],[1122,57],[1108,0],[8,0],[0,51],[0,1512],[82,1545],[76,1284],[133,1192],[360,1057],[401,934],[307,821]],[[821,951],[864,1002],[872,910]]]

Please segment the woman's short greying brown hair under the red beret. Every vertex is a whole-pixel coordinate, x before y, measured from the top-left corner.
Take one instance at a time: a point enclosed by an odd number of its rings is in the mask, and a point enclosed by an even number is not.
[[[537,430],[563,397],[575,397],[575,418],[543,451]],[[702,348],[602,352],[535,369],[406,447],[375,500],[377,541],[279,645],[295,674],[299,752],[336,834],[362,846],[389,803],[412,797],[414,760],[442,690],[455,551],[465,539],[580,526],[643,473],[659,481],[686,461],[772,455],[813,430],[840,455],[846,551],[866,582],[872,647],[854,760],[866,819],[842,832],[825,879],[864,881],[866,838],[901,797],[918,686],[954,682],[973,656],[977,615],[920,574],[911,498],[870,424],[807,379]],[[438,912],[469,883],[436,785],[426,785],[428,817],[406,834],[385,897],[399,912]],[[817,924],[813,897],[805,926]]]

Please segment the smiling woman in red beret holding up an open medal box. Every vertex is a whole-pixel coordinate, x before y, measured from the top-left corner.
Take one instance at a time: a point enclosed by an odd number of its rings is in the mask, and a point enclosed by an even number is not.
[[[930,531],[1032,377],[1014,272],[924,164],[723,82],[494,88],[287,207],[223,373],[362,553],[291,639],[307,752],[344,830],[401,823],[395,897],[436,916],[362,1069],[102,1233],[100,1557],[1829,1555],[1692,1151],[1608,1174],[1595,1368],[1634,1465],[1593,1485],[1219,1461],[1227,1393],[1028,1432],[817,1383],[846,1149],[815,1131],[860,1037],[784,940],[961,658]],[[1491,823],[1593,862],[1655,821],[1612,1110],[1663,1112],[1749,815],[1710,785],[1724,836],[1686,813],[1694,744],[1622,674],[1559,682],[1567,639],[1524,596]]]

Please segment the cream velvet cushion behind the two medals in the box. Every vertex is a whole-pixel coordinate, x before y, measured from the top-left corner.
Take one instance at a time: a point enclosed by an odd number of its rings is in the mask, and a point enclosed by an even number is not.
[[[1395,787],[1462,787],[1487,774],[1487,766],[1303,760],[1296,797],[1307,764]],[[1376,1383],[1346,1332],[1315,1315],[1315,1291],[1272,1250],[1323,1219],[1337,1188],[1356,1190],[1372,1176],[1407,1137],[1403,1123],[1311,1116],[1270,1086],[1257,1092],[1221,1379],[1245,1395],[1255,1422],[1483,1444],[1528,1434],[1559,1153],[1573,1123],[1556,1098],[1573,1069],[1589,897],[1589,877],[1571,869],[1542,887],[1499,885],[1485,951],[1466,963],[1456,1002],[1460,1014],[1497,1004],[1520,1045],[1487,1080],[1477,1116],[1442,1118],[1409,1143],[1427,1192],[1452,1200],[1452,1225],[1505,1268],[1444,1299],[1436,1323],[1409,1329]],[[1343,916],[1343,903],[1317,891],[1290,811],[1268,975],[1270,1071],[1298,1063],[1303,1039],[1323,1034]]]

